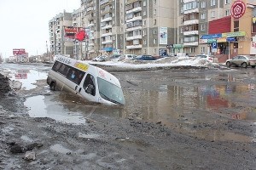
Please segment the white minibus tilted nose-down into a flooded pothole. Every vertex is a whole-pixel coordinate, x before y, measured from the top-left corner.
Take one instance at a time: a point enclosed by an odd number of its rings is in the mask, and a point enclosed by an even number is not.
[[[51,90],[67,91],[105,105],[125,105],[120,82],[108,71],[62,55],[55,57],[47,77]]]

